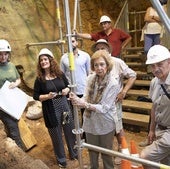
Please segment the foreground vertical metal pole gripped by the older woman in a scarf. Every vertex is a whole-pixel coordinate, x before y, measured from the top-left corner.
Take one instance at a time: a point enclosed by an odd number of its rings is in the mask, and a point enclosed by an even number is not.
[[[69,55],[69,65],[70,65],[70,72],[71,72],[71,86],[73,86],[72,91],[75,91],[75,64],[74,64],[74,55],[73,55],[73,49],[72,49],[72,43],[71,43],[71,26],[70,26],[70,11],[69,11],[69,4],[68,0],[64,0],[64,6],[65,6],[65,17],[66,17],[66,28],[67,28],[67,39],[68,39],[68,55]],[[82,154],[81,154],[81,138],[80,138],[80,126],[79,126],[79,117],[78,117],[78,110],[77,107],[73,107],[74,111],[74,124],[75,129],[73,130],[73,133],[76,134],[77,139],[77,150],[78,150],[78,160],[80,168],[83,168],[83,161],[82,161]]]

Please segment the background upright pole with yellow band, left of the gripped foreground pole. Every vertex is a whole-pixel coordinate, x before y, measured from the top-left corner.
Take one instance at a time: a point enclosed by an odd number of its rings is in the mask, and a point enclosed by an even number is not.
[[[63,40],[59,0],[56,0],[56,15],[57,15],[57,21],[58,21],[58,27],[59,27],[60,40]],[[62,52],[62,54],[64,54],[63,44],[61,44],[61,52]]]

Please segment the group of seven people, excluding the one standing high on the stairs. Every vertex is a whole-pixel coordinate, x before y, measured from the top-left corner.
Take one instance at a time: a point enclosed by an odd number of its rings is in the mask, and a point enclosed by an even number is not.
[[[71,38],[75,60],[75,93],[70,91],[71,83],[68,53],[58,63],[53,53],[43,48],[37,59],[37,77],[34,83],[33,98],[42,102],[45,125],[48,129],[57,163],[67,166],[66,153],[62,139],[64,132],[71,160],[78,159],[74,116],[71,106],[81,108],[82,128],[89,144],[113,149],[116,135],[118,150],[121,150],[122,100],[136,80],[136,73],[120,59],[121,50],[131,41],[131,36],[120,29],[112,28],[111,19],[104,15],[100,18],[103,31],[94,34],[76,32]],[[77,37],[94,40],[92,56],[78,49]],[[5,80],[11,82],[10,88],[20,83],[19,74],[10,62],[11,47],[8,41],[0,40],[0,87]],[[151,65],[155,78],[151,82],[150,98],[153,102],[151,124],[148,138],[152,144],[146,147],[141,157],[170,165],[169,139],[169,93],[170,93],[170,53],[162,45],[154,45],[147,52],[146,64]],[[123,85],[123,79],[127,83]],[[163,86],[163,87],[162,87]],[[166,92],[165,92],[166,91]],[[71,103],[68,101],[71,100]],[[70,105],[71,104],[71,105]],[[18,129],[18,121],[0,110],[0,119],[9,137],[23,147]],[[103,168],[113,169],[112,157],[101,153]],[[89,150],[90,168],[99,168],[99,152]],[[144,166],[146,169],[151,168]]]

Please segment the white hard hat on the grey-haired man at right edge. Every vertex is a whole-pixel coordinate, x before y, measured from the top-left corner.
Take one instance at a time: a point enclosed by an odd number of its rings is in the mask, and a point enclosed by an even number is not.
[[[170,58],[169,50],[162,45],[152,46],[147,54],[146,64],[154,64]]]

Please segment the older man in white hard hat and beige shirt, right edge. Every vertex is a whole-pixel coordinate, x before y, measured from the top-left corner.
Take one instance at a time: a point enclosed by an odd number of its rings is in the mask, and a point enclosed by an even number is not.
[[[149,96],[153,102],[147,146],[141,157],[170,166],[170,52],[162,45],[154,45],[147,54],[155,78],[150,84]],[[145,169],[157,167],[144,166]],[[165,167],[166,168],[166,167]]]

